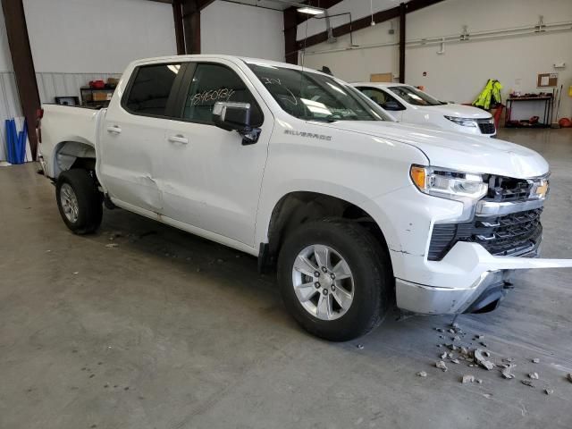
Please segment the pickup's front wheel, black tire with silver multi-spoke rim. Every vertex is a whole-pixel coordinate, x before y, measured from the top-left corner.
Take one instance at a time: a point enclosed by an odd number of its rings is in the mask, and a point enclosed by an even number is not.
[[[379,243],[344,220],[302,224],[278,258],[285,306],[308,332],[330,341],[357,338],[381,323],[391,278]]]

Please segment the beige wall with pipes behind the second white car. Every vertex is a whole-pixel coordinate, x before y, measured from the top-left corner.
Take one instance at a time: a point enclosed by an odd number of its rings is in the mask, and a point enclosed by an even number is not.
[[[343,2],[346,3],[346,2]],[[346,9],[348,10],[348,9]],[[493,11],[493,13],[492,13]],[[569,0],[447,0],[415,13],[408,14],[407,39],[435,38],[460,35],[463,25],[468,32],[509,29],[534,25],[543,21],[555,23],[572,21],[572,2]],[[364,16],[363,14],[361,16]],[[356,14],[353,18],[359,18]],[[391,22],[383,22],[354,34],[354,44],[387,46],[344,50],[349,47],[349,36],[335,44],[323,43],[307,49],[304,63],[313,68],[328,65],[334,74],[345,80],[369,80],[371,73],[392,71],[399,74],[399,21],[394,20],[395,34],[388,34]],[[469,40],[447,43],[445,52],[438,55],[439,45],[408,46],[406,52],[406,80],[423,85],[426,90],[445,100],[471,102],[489,78],[501,80],[503,97],[510,89],[537,92],[536,74],[558,72],[559,84],[565,94],[572,85],[572,31],[535,33],[490,40]],[[316,51],[321,53],[316,54]],[[332,52],[334,51],[334,52]],[[555,70],[553,63],[567,63],[565,69]],[[423,72],[427,76],[423,76]],[[523,117],[534,114],[522,113]],[[559,116],[572,115],[572,98],[562,97]]]

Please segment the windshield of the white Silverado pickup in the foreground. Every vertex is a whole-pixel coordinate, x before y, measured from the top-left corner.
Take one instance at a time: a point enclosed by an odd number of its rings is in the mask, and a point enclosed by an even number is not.
[[[374,103],[349,85],[323,74],[247,63],[282,109],[307,121],[388,120]]]

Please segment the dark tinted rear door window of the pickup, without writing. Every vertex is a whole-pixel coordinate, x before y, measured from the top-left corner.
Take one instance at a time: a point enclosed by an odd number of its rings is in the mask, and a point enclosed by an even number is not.
[[[174,101],[172,88],[180,71],[180,63],[138,67],[133,72],[123,107],[131,114],[168,116]]]

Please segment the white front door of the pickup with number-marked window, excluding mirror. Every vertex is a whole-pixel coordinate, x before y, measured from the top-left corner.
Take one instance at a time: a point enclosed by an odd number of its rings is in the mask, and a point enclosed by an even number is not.
[[[189,63],[184,82],[180,118],[165,136],[164,215],[252,246],[273,116],[231,62]],[[251,105],[251,123],[262,130],[256,144],[214,126],[217,101]]]

